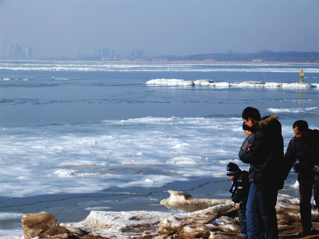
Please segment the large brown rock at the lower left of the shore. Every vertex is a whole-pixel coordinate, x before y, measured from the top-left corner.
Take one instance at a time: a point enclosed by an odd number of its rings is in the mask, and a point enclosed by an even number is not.
[[[28,213],[21,218],[25,239],[39,236],[46,230],[57,226],[56,218],[46,212]]]

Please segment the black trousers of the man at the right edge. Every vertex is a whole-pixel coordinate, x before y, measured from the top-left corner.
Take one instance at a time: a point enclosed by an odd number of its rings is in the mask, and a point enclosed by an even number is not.
[[[318,179],[314,183],[309,182],[299,182],[299,192],[300,192],[300,218],[301,224],[304,232],[309,232],[312,228],[311,223],[311,194],[312,188],[314,189],[314,199],[316,206],[318,205]],[[318,209],[319,210],[319,209]]]

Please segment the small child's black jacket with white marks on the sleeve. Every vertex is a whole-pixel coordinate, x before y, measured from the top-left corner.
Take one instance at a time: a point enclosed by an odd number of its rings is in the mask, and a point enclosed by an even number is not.
[[[232,188],[233,187],[235,187],[235,191],[232,194],[232,201],[234,203],[240,203],[241,201],[248,199],[250,183],[247,171],[243,170],[233,178]],[[231,192],[231,190],[229,191]]]

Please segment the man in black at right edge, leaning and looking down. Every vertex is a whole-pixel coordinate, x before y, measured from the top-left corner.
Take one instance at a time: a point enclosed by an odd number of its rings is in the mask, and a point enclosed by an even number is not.
[[[318,161],[319,161],[319,134],[317,129],[309,129],[304,120],[293,123],[293,132],[296,134],[289,142],[285,154],[285,176],[293,167],[298,173],[300,192],[300,217],[303,234],[309,235],[311,224],[311,194],[314,189],[315,206],[318,207]]]

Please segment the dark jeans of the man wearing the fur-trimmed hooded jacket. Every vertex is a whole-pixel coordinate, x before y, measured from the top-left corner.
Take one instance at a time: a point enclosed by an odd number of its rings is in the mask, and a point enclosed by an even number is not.
[[[255,188],[250,209],[256,238],[278,238],[277,195],[277,189]]]

